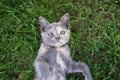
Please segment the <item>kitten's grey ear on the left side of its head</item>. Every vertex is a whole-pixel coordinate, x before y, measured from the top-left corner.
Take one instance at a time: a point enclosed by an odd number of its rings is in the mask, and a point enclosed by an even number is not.
[[[45,29],[49,22],[42,16],[39,17],[39,24],[40,24],[40,29],[42,32],[45,32]]]

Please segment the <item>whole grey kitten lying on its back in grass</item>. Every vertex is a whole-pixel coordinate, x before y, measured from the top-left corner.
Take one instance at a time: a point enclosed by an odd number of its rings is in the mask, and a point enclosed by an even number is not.
[[[71,59],[69,41],[69,14],[59,22],[49,23],[40,17],[42,44],[35,59],[35,80],[66,80],[66,74],[82,72],[85,80],[92,80],[88,66],[84,62]]]

